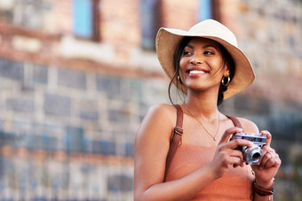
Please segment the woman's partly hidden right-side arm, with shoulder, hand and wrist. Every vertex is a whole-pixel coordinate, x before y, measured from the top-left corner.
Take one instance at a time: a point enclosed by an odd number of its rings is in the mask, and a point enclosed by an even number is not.
[[[243,127],[247,128],[247,132],[258,133],[257,126],[245,119],[241,119]],[[270,146],[272,142],[272,135],[268,131],[261,131],[262,135],[266,135],[266,145],[262,148],[263,154],[259,162],[255,166],[251,166],[255,172],[255,181],[261,189],[271,189],[274,185],[274,176],[281,166],[281,159],[279,155]],[[273,200],[273,196],[260,196],[255,193],[254,200]]]

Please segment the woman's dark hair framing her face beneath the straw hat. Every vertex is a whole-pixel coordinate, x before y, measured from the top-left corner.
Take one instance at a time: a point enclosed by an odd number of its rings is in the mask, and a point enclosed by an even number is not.
[[[178,46],[175,49],[174,52],[174,56],[173,56],[173,66],[174,66],[174,70],[175,73],[173,75],[173,77],[171,78],[171,81],[169,83],[169,89],[168,89],[168,93],[169,93],[169,99],[171,101],[171,104],[173,104],[173,101],[171,99],[171,86],[173,85],[173,83],[175,83],[176,87],[179,89],[182,86],[182,82],[180,81],[180,79],[178,79],[179,76],[179,61],[180,58],[182,56],[183,50],[185,49],[187,43],[189,43],[192,40],[193,37],[184,37],[178,44]],[[227,64],[227,67],[230,71],[230,81],[233,80],[234,78],[234,60],[232,58],[232,56],[228,53],[227,49],[219,43],[219,48],[221,50],[221,54],[222,54],[222,58],[224,59],[225,64]],[[219,86],[219,97],[218,97],[218,101],[217,101],[217,105],[222,104],[224,96],[223,96],[223,92],[227,91],[227,86],[224,86],[222,83],[220,83]]]

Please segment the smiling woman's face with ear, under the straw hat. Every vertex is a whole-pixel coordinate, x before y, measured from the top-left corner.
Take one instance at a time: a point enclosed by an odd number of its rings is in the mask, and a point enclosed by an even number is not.
[[[222,76],[229,77],[227,64],[223,62],[219,43],[211,39],[194,37],[184,48],[179,61],[180,79],[187,88],[219,90]]]

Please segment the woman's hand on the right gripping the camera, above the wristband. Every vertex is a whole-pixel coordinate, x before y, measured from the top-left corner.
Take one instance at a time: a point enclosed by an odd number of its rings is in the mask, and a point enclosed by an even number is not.
[[[256,182],[262,188],[269,187],[272,184],[274,175],[281,166],[279,155],[270,147],[272,135],[268,131],[261,131],[261,135],[266,135],[266,145],[262,148],[262,157],[255,166],[251,166],[255,172]]]

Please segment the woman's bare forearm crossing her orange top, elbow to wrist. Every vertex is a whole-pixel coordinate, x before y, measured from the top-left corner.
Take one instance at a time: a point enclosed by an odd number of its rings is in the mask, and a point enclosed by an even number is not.
[[[204,166],[178,180],[158,183],[136,193],[135,200],[189,200],[216,179],[210,166]]]

